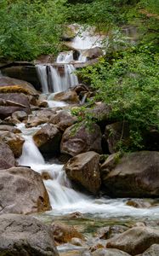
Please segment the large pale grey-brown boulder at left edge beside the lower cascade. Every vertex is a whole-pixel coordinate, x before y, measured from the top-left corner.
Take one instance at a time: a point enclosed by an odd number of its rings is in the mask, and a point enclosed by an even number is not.
[[[0,213],[44,212],[50,210],[47,190],[37,172],[27,167],[0,171]]]

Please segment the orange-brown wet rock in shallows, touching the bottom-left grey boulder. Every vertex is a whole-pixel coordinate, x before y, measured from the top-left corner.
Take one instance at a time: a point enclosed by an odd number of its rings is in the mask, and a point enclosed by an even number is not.
[[[54,235],[54,240],[60,243],[71,241],[73,237],[83,239],[82,234],[73,226],[68,226],[66,224],[52,224],[51,229]]]

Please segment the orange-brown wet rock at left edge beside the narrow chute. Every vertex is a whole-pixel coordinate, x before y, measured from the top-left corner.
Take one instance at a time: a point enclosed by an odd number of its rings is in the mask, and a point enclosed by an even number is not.
[[[18,158],[22,154],[23,144],[25,139],[20,134],[15,134],[9,131],[0,131],[0,139],[9,145],[9,148],[14,153],[14,157]]]

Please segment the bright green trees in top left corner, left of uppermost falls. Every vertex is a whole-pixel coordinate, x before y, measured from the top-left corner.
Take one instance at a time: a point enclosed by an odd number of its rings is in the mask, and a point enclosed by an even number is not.
[[[55,53],[65,20],[65,0],[1,0],[0,55],[32,60]]]

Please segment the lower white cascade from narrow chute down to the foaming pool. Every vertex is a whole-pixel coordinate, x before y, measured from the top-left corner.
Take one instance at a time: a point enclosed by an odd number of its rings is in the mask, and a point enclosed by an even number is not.
[[[49,200],[53,210],[49,214],[63,215],[71,212],[82,212],[93,214],[99,218],[158,218],[159,207],[148,209],[137,209],[128,207],[126,199],[96,199],[94,196],[83,195],[72,189],[71,182],[65,175],[62,165],[49,164],[43,160],[42,154],[32,140],[32,134],[40,129],[34,127],[26,129],[24,125],[18,125],[23,132],[26,142],[23,146],[23,153],[18,160],[21,166],[31,166],[31,169],[38,173],[48,172],[52,179],[45,180]]]

